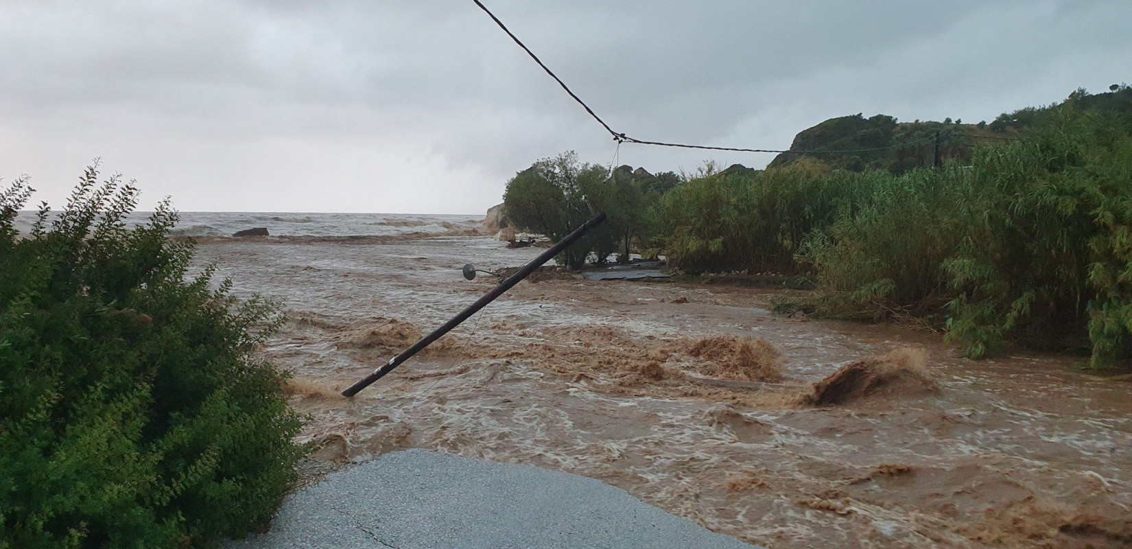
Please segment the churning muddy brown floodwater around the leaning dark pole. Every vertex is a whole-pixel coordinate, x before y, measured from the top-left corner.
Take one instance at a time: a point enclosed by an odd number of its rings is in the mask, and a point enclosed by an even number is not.
[[[524,282],[337,396],[491,288],[465,281],[464,263],[539,251],[483,237],[220,239],[197,258],[237,293],[285,303],[265,353],[294,372],[320,461],[421,447],[529,463],[769,548],[1132,543],[1132,385],[1065,358],[970,361],[934,334],[774,317],[773,290]],[[815,381],[889,352],[931,379],[806,403]]]

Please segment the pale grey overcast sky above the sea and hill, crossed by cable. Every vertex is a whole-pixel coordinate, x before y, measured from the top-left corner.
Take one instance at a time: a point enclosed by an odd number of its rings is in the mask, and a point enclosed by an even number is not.
[[[484,0],[615,129],[788,148],[863,112],[990,120],[1132,80],[1132,1]],[[144,208],[482,213],[615,144],[471,0],[0,0],[0,177],[84,165]],[[623,145],[693,170],[773,155]]]

